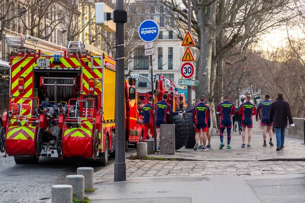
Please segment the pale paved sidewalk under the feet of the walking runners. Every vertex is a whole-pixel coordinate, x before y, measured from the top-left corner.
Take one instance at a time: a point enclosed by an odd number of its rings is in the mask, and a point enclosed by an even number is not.
[[[305,145],[304,141],[299,138],[285,136],[285,149],[276,151],[277,139],[273,133],[272,142],[274,146],[270,146],[269,134],[267,133],[267,147],[263,147],[263,132],[260,122],[253,122],[252,129],[252,148],[241,148],[241,134],[237,132],[231,133],[231,147],[227,150],[226,146],[223,150],[219,149],[220,138],[213,136],[211,138],[211,149],[209,151],[186,149],[176,150],[175,154],[151,154],[150,157],[165,157],[169,159],[187,159],[187,160],[202,160],[202,161],[265,161],[265,160],[284,160],[284,161],[304,161],[305,160]],[[225,131],[224,143],[227,145],[227,134]],[[248,144],[248,131],[246,131],[246,146]]]

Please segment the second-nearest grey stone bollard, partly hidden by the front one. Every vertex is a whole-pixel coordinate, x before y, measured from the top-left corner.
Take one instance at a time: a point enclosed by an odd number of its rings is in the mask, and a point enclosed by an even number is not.
[[[66,177],[67,185],[72,185],[75,198],[83,201],[85,197],[85,177],[81,175],[70,175]]]

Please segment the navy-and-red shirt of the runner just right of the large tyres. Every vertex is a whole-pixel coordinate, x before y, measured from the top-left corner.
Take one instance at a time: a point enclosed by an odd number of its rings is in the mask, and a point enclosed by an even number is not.
[[[210,118],[209,106],[203,102],[198,103],[193,109],[186,111],[186,113],[193,113],[195,124],[207,123],[207,120]]]

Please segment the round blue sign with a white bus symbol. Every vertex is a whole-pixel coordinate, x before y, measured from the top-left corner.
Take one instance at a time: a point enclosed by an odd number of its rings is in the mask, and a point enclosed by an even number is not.
[[[139,26],[139,36],[144,42],[154,42],[159,32],[159,25],[154,20],[144,20]]]

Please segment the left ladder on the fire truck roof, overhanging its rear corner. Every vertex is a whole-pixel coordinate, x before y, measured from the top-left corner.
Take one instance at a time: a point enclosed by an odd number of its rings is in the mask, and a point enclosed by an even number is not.
[[[5,39],[7,41],[8,47],[13,47],[18,50],[40,50],[41,52],[63,52],[67,50],[67,48],[63,47],[62,45],[57,45],[29,35],[20,37],[5,35]]]

